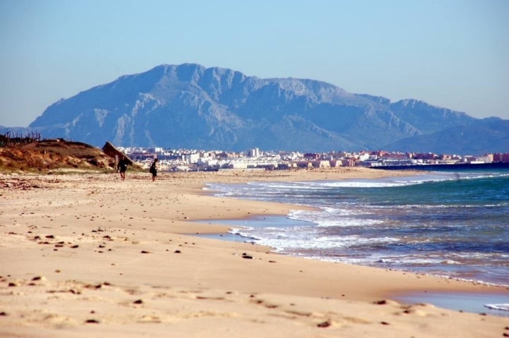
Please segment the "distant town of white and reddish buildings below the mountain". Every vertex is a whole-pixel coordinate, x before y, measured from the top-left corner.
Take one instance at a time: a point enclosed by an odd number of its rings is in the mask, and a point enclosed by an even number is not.
[[[264,151],[257,147],[244,152],[225,150],[165,149],[163,147],[118,147],[141,167],[154,158],[166,171],[217,169],[312,169],[330,167],[409,167],[440,164],[509,163],[509,152],[479,155],[450,155],[433,152],[375,151]]]

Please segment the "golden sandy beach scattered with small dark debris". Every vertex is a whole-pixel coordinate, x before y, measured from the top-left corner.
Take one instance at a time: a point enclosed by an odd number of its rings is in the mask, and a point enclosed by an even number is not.
[[[408,175],[310,171],[0,174],[0,337],[509,337],[508,318],[402,304],[501,286],[306,260],[194,236],[193,222],[302,206],[219,198],[209,182]]]

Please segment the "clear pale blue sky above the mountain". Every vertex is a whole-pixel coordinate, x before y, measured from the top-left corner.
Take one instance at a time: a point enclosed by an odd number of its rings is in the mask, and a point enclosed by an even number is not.
[[[509,0],[0,0],[0,125],[160,64],[509,119]]]

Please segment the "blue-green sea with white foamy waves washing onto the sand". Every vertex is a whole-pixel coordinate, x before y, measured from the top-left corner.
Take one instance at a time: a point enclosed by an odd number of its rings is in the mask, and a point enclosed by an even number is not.
[[[230,198],[317,208],[221,220],[232,234],[305,258],[509,285],[509,169],[384,179],[213,183]],[[509,299],[490,304],[509,310]]]

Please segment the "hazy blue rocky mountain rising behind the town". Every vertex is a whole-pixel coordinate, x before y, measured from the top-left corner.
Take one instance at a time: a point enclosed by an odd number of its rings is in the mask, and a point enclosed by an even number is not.
[[[353,94],[317,80],[160,65],[47,107],[28,128],[102,146],[262,150],[509,151],[509,120],[416,99]]]

